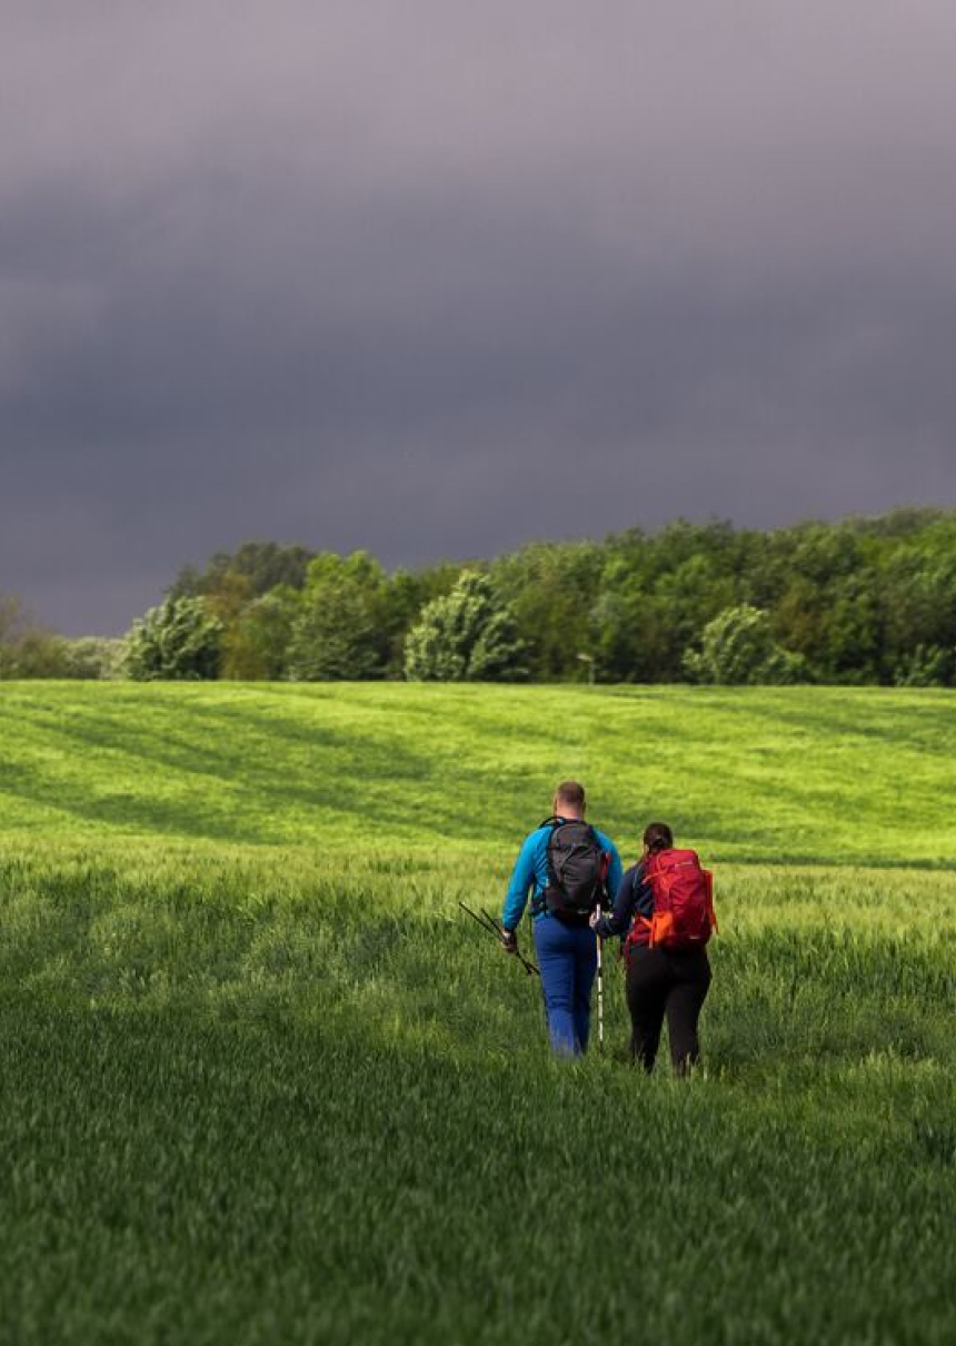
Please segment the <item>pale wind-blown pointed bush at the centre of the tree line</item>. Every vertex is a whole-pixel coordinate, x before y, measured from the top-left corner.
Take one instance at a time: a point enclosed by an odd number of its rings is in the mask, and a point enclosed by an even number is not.
[[[464,571],[409,631],[405,676],[411,682],[520,682],[527,677],[524,658],[514,612],[491,579]]]

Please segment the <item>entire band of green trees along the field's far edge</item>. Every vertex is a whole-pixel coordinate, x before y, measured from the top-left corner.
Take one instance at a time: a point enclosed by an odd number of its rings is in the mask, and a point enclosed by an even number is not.
[[[675,522],[387,572],[247,542],[121,641],[0,599],[0,677],[956,685],[956,511]]]

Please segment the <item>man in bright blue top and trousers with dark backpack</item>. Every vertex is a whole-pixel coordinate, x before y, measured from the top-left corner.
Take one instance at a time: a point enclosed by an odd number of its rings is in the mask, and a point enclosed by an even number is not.
[[[515,953],[515,931],[531,894],[547,1031],[562,1057],[588,1050],[597,970],[597,941],[588,922],[598,905],[608,906],[608,892],[617,892],[623,872],[614,843],[584,816],[584,786],[563,781],[554,794],[553,817],[524,839],[502,913],[502,942],[507,953]]]

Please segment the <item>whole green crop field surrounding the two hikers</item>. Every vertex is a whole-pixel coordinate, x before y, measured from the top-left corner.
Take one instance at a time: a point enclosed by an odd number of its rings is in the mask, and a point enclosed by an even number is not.
[[[0,684],[0,1342],[949,1346],[955,760],[947,692]],[[687,1082],[459,910],[567,775],[715,870]]]

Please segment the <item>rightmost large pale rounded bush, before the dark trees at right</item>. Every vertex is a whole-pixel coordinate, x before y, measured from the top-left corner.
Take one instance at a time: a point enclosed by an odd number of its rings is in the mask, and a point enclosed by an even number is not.
[[[801,656],[781,649],[766,612],[742,604],[725,608],[703,629],[699,650],[684,654],[691,682],[785,685],[807,681]]]

